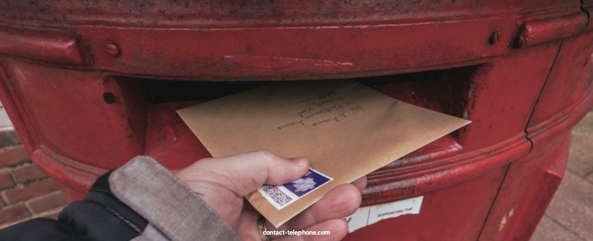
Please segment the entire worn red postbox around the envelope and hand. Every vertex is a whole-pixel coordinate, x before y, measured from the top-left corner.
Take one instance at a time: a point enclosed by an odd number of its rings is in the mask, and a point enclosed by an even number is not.
[[[170,170],[209,156],[176,109],[259,85],[249,81],[358,78],[473,123],[372,172],[363,205],[424,195],[421,212],[346,240],[528,240],[563,176],[570,129],[593,104],[592,10],[1,1],[0,99],[34,162],[77,200],[133,156]]]

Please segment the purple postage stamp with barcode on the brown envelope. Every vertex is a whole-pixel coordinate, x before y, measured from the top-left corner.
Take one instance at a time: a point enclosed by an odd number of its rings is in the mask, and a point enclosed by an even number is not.
[[[280,210],[332,180],[331,177],[309,168],[308,172],[297,181],[279,186],[263,185],[257,190],[263,198]]]

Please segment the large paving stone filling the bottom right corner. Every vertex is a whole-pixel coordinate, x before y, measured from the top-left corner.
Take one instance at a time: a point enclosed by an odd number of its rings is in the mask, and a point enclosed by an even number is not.
[[[593,184],[566,171],[546,214],[582,240],[593,240]]]

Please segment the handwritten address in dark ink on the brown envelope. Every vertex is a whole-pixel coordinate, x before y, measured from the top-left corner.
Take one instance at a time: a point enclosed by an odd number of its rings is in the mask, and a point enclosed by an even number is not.
[[[336,91],[322,92],[295,104],[306,103],[306,107],[295,113],[294,121],[279,125],[277,130],[297,126],[318,127],[326,123],[339,123],[354,111],[365,111],[363,106],[351,102],[348,97]]]

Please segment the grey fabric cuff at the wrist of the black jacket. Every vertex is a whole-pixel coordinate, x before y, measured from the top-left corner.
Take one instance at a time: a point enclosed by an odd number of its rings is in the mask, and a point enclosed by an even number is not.
[[[214,209],[148,156],[114,170],[109,184],[115,197],[149,222],[134,240],[240,240]]]

